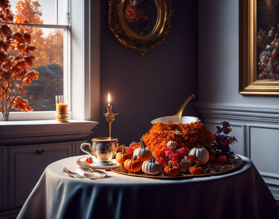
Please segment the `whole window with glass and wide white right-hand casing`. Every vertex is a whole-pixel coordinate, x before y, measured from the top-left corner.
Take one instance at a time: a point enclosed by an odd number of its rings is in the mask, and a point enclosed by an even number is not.
[[[17,14],[16,6],[19,0],[10,0],[10,2],[12,12]],[[44,47],[50,49],[48,49],[48,60],[37,56],[38,60],[33,68],[39,68],[39,80],[33,81],[29,87],[26,87],[26,91],[29,91],[25,94],[26,99],[30,101],[34,111],[10,112],[9,120],[54,119],[54,95],[64,94],[69,96],[70,119],[98,121],[100,110],[100,1],[20,0],[20,2],[37,2],[40,7],[35,5],[35,9],[40,12],[33,14],[32,19],[29,20],[20,17],[21,22],[24,21],[24,23],[16,23],[16,19],[14,19],[13,23],[8,23],[8,25],[17,28],[32,28],[34,32],[42,31],[47,41],[56,42],[57,48],[63,47],[63,53],[61,49],[50,48],[50,44],[44,43],[42,46],[42,43],[38,43],[39,49],[44,50]],[[43,22],[33,19],[36,16]],[[45,60],[45,62],[39,63],[39,59]],[[35,94],[31,94],[31,91],[34,90]],[[23,94],[20,95],[23,96]],[[1,114],[0,120],[3,120]]]

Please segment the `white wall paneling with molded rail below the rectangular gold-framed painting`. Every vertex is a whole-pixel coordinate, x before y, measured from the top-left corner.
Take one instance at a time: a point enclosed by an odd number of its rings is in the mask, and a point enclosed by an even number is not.
[[[279,200],[279,107],[265,105],[195,104],[204,124],[215,132],[221,121],[231,124],[238,143],[232,151],[250,158],[273,196]]]

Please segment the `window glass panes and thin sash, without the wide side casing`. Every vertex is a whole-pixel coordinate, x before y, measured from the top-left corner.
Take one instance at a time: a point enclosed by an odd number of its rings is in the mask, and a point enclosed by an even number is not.
[[[29,86],[23,86],[24,91],[19,94],[23,99],[28,100],[28,105],[34,111],[21,113],[21,111],[11,109],[9,120],[53,119],[55,95],[69,96],[70,1],[9,1],[14,19],[7,25],[13,32],[27,32],[31,35],[30,45],[35,46],[36,50],[31,52],[35,61],[28,70],[39,72],[39,80],[33,80]],[[9,56],[20,54],[17,48],[16,50],[9,49],[8,53]],[[69,97],[69,106],[70,100]]]

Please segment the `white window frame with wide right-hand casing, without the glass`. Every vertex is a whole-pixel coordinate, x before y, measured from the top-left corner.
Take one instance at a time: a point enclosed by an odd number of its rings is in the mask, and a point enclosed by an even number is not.
[[[29,24],[29,26],[64,29],[63,93],[69,97],[69,117],[75,120],[98,121],[100,112],[100,2],[98,0],[69,0],[68,11],[69,26],[35,24]],[[54,119],[55,111],[19,111],[10,112],[9,116],[9,121],[45,120]],[[0,121],[3,121],[2,114],[0,114]]]

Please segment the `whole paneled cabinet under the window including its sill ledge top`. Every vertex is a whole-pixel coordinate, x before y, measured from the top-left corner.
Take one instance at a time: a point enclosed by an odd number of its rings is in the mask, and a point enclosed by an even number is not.
[[[80,154],[93,121],[0,122],[0,218],[16,218],[45,168]],[[62,170],[61,170],[62,173]]]

